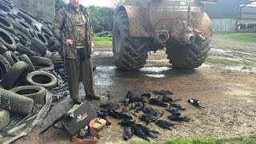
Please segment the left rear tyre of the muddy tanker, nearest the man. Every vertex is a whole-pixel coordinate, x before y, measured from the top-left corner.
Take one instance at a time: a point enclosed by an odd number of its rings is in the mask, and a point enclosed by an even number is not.
[[[146,38],[131,38],[128,17],[118,11],[114,19],[113,53],[120,70],[138,70],[146,64],[149,41]]]

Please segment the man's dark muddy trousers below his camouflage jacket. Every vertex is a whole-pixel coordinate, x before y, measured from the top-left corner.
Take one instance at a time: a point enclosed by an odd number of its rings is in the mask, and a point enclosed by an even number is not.
[[[86,95],[95,95],[94,75],[91,64],[91,58],[85,53],[85,49],[78,49],[77,58],[65,58],[65,69],[69,83],[70,98],[80,98],[79,78],[86,91]]]

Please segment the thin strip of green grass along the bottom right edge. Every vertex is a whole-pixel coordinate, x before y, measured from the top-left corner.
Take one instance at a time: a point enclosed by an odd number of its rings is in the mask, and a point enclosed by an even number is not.
[[[235,144],[244,144],[244,143],[256,143],[256,135],[250,137],[239,137],[239,138],[193,138],[191,140],[180,138],[177,140],[170,140],[168,142],[146,142],[146,141],[136,141],[131,142],[132,144],[226,144],[226,143],[235,143]]]

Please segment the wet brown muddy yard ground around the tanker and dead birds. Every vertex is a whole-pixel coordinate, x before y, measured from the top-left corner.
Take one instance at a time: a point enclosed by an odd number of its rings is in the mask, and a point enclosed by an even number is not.
[[[110,46],[96,46],[94,64],[97,70],[94,74],[98,94],[110,91],[109,101],[114,102],[124,98],[128,90],[135,94],[145,90],[171,90],[174,98],[182,98],[178,102],[186,107],[182,115],[190,117],[191,121],[173,130],[162,130],[150,123],[151,129],[161,133],[156,141],[256,134],[256,43],[238,42],[215,34],[210,46],[208,61],[195,70],[171,69],[165,51],[161,50],[150,54],[145,68],[135,72],[118,71]],[[189,98],[200,100],[205,109],[191,106],[187,102]],[[98,102],[92,103],[98,106]],[[166,115],[168,112],[162,119],[166,119]],[[118,126],[118,121],[108,120],[112,125],[99,133],[100,143],[126,143],[122,140],[123,128]],[[70,143],[64,130],[50,128],[38,136],[39,131],[40,128],[16,143]],[[134,136],[128,142],[135,140],[141,139]]]

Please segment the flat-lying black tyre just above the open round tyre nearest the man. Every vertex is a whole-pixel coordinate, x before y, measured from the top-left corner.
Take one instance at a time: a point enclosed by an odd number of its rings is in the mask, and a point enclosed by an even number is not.
[[[34,66],[53,66],[53,62],[50,58],[44,58],[44,57],[38,57],[38,56],[32,56],[30,57],[31,62],[34,64]]]

